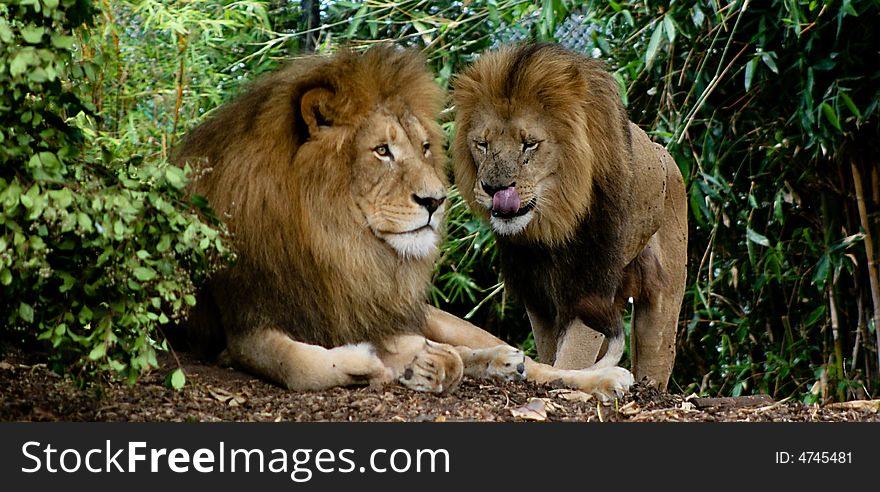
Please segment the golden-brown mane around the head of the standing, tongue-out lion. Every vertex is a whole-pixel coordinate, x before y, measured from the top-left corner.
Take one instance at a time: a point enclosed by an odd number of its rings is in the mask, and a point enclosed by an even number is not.
[[[553,200],[536,210],[525,233],[548,245],[572,238],[593,204],[594,184],[613,199],[632,187],[629,119],[620,104],[617,84],[598,60],[570,56],[547,45],[511,46],[484,53],[455,80],[456,136],[453,144],[455,182],[472,210],[477,164],[468,132],[479,114],[511,118],[538,110],[541,123],[562,153],[560,179]]]

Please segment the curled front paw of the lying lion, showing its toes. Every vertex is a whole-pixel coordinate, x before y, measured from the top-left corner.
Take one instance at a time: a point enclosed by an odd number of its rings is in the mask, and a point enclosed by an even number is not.
[[[397,380],[415,391],[448,393],[458,387],[463,374],[458,352],[449,345],[426,340],[424,350],[416,354]]]

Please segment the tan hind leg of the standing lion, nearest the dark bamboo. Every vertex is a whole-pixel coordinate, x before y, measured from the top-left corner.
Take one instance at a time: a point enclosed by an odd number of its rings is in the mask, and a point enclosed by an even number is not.
[[[660,263],[662,281],[642,279],[633,309],[632,359],[637,379],[666,389],[675,362],[678,315],[687,281],[687,197],[674,162],[667,163],[666,213],[648,243]]]

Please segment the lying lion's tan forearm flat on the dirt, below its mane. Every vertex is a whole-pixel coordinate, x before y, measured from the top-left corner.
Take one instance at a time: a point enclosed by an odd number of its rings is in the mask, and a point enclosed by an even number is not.
[[[228,336],[221,360],[292,390],[320,390],[390,378],[375,348],[368,343],[326,349],[297,342],[275,329]]]

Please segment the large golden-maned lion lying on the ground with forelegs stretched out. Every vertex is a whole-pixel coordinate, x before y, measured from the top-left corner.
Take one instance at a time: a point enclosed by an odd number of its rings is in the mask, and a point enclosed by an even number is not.
[[[447,183],[444,95],[419,55],[309,57],[193,130],[174,161],[227,223],[235,264],[213,275],[191,343],[290,389],[396,380],[450,391],[463,374],[609,397],[617,372],[560,371],[429,307]]]

